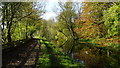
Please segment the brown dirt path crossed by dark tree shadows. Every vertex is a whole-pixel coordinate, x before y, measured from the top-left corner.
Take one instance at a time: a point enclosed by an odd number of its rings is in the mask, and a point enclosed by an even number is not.
[[[37,40],[31,40],[11,52],[3,54],[2,68],[35,68],[39,52]]]

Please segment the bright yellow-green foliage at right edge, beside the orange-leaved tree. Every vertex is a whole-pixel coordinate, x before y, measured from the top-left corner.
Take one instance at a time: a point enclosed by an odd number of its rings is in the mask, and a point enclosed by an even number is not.
[[[104,24],[108,29],[108,37],[120,35],[120,5],[113,5],[104,12]]]

